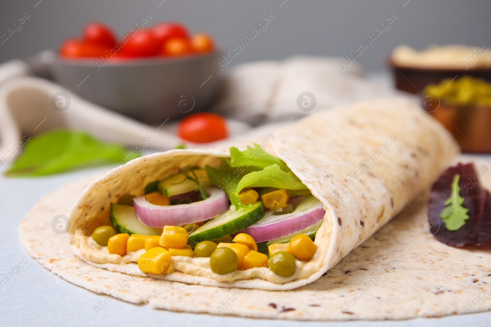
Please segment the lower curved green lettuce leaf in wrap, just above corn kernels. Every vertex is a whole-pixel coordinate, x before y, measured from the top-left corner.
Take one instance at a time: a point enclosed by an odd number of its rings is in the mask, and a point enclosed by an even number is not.
[[[258,172],[252,172],[242,177],[237,185],[236,194],[246,187],[275,187],[287,190],[306,190],[299,177],[292,172],[285,172],[278,164],[265,167]]]

